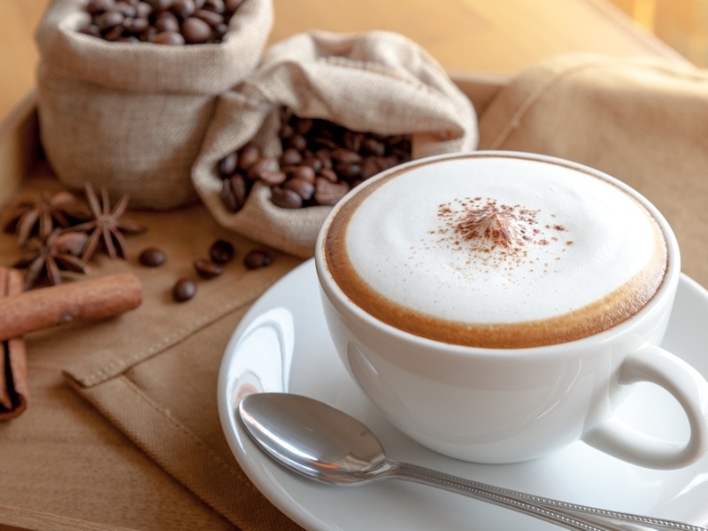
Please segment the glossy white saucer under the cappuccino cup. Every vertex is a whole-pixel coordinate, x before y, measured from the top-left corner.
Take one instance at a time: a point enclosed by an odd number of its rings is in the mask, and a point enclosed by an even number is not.
[[[337,488],[290,473],[251,443],[236,418],[238,397],[252,390],[312,396],[349,412],[379,435],[389,458],[568,502],[708,522],[708,457],[680,470],[658,471],[574,443],[547,458],[490,466],[445,458],[413,443],[381,417],[345,372],[327,335],[319,297],[311,260],[253,305],[228,343],[219,373],[219,415],[235,458],[256,487],[300,526],[323,531],[558,528],[407,481]],[[706,316],[708,292],[682,276],[663,346],[708,375]],[[622,406],[625,419],[656,435],[688,433],[683,412],[665,391],[636,385]]]

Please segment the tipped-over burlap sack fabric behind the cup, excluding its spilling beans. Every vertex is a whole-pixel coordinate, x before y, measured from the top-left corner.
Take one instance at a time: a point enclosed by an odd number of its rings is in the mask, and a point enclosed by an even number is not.
[[[280,156],[282,108],[352,131],[410,134],[412,158],[477,145],[469,99],[435,59],[404,36],[312,32],[276,43],[256,72],[220,97],[193,179],[220,225],[301,258],[312,256],[331,206],[281,208],[261,184],[250,190],[238,212],[230,212],[219,198],[217,165],[228,153],[253,141],[268,157]]]

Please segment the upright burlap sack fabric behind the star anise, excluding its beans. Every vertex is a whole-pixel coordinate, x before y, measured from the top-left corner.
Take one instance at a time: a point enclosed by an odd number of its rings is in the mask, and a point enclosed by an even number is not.
[[[246,0],[219,43],[169,46],[83,35],[87,0],[54,0],[36,32],[42,146],[58,179],[89,181],[131,206],[197,200],[190,170],[217,98],[255,67],[271,0]]]

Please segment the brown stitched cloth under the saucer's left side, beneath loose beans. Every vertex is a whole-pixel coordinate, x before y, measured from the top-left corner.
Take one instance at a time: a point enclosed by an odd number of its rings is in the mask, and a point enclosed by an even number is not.
[[[167,264],[131,268],[142,280],[142,305],[75,335],[74,348],[83,355],[65,367],[66,379],[167,473],[236,527],[296,529],[236,463],[220,428],[216,386],[220,359],[239,319],[299,260],[215,230],[201,206],[142,216],[149,227],[142,245],[149,244],[149,237],[150,245],[165,251]],[[217,238],[234,245],[235,258],[224,273],[203,280],[192,262],[208,258]],[[250,250],[266,250],[273,263],[247,269],[243,257]],[[171,295],[179,277],[197,283],[196,296],[182,304]]]

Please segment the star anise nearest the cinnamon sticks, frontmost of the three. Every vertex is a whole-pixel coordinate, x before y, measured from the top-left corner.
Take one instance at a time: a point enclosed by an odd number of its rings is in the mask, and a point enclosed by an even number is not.
[[[65,232],[61,228],[55,228],[46,238],[31,238],[24,256],[15,264],[19,269],[27,268],[24,289],[45,278],[51,285],[61,284],[61,270],[86,273],[87,267],[79,255],[88,239],[84,233]]]

